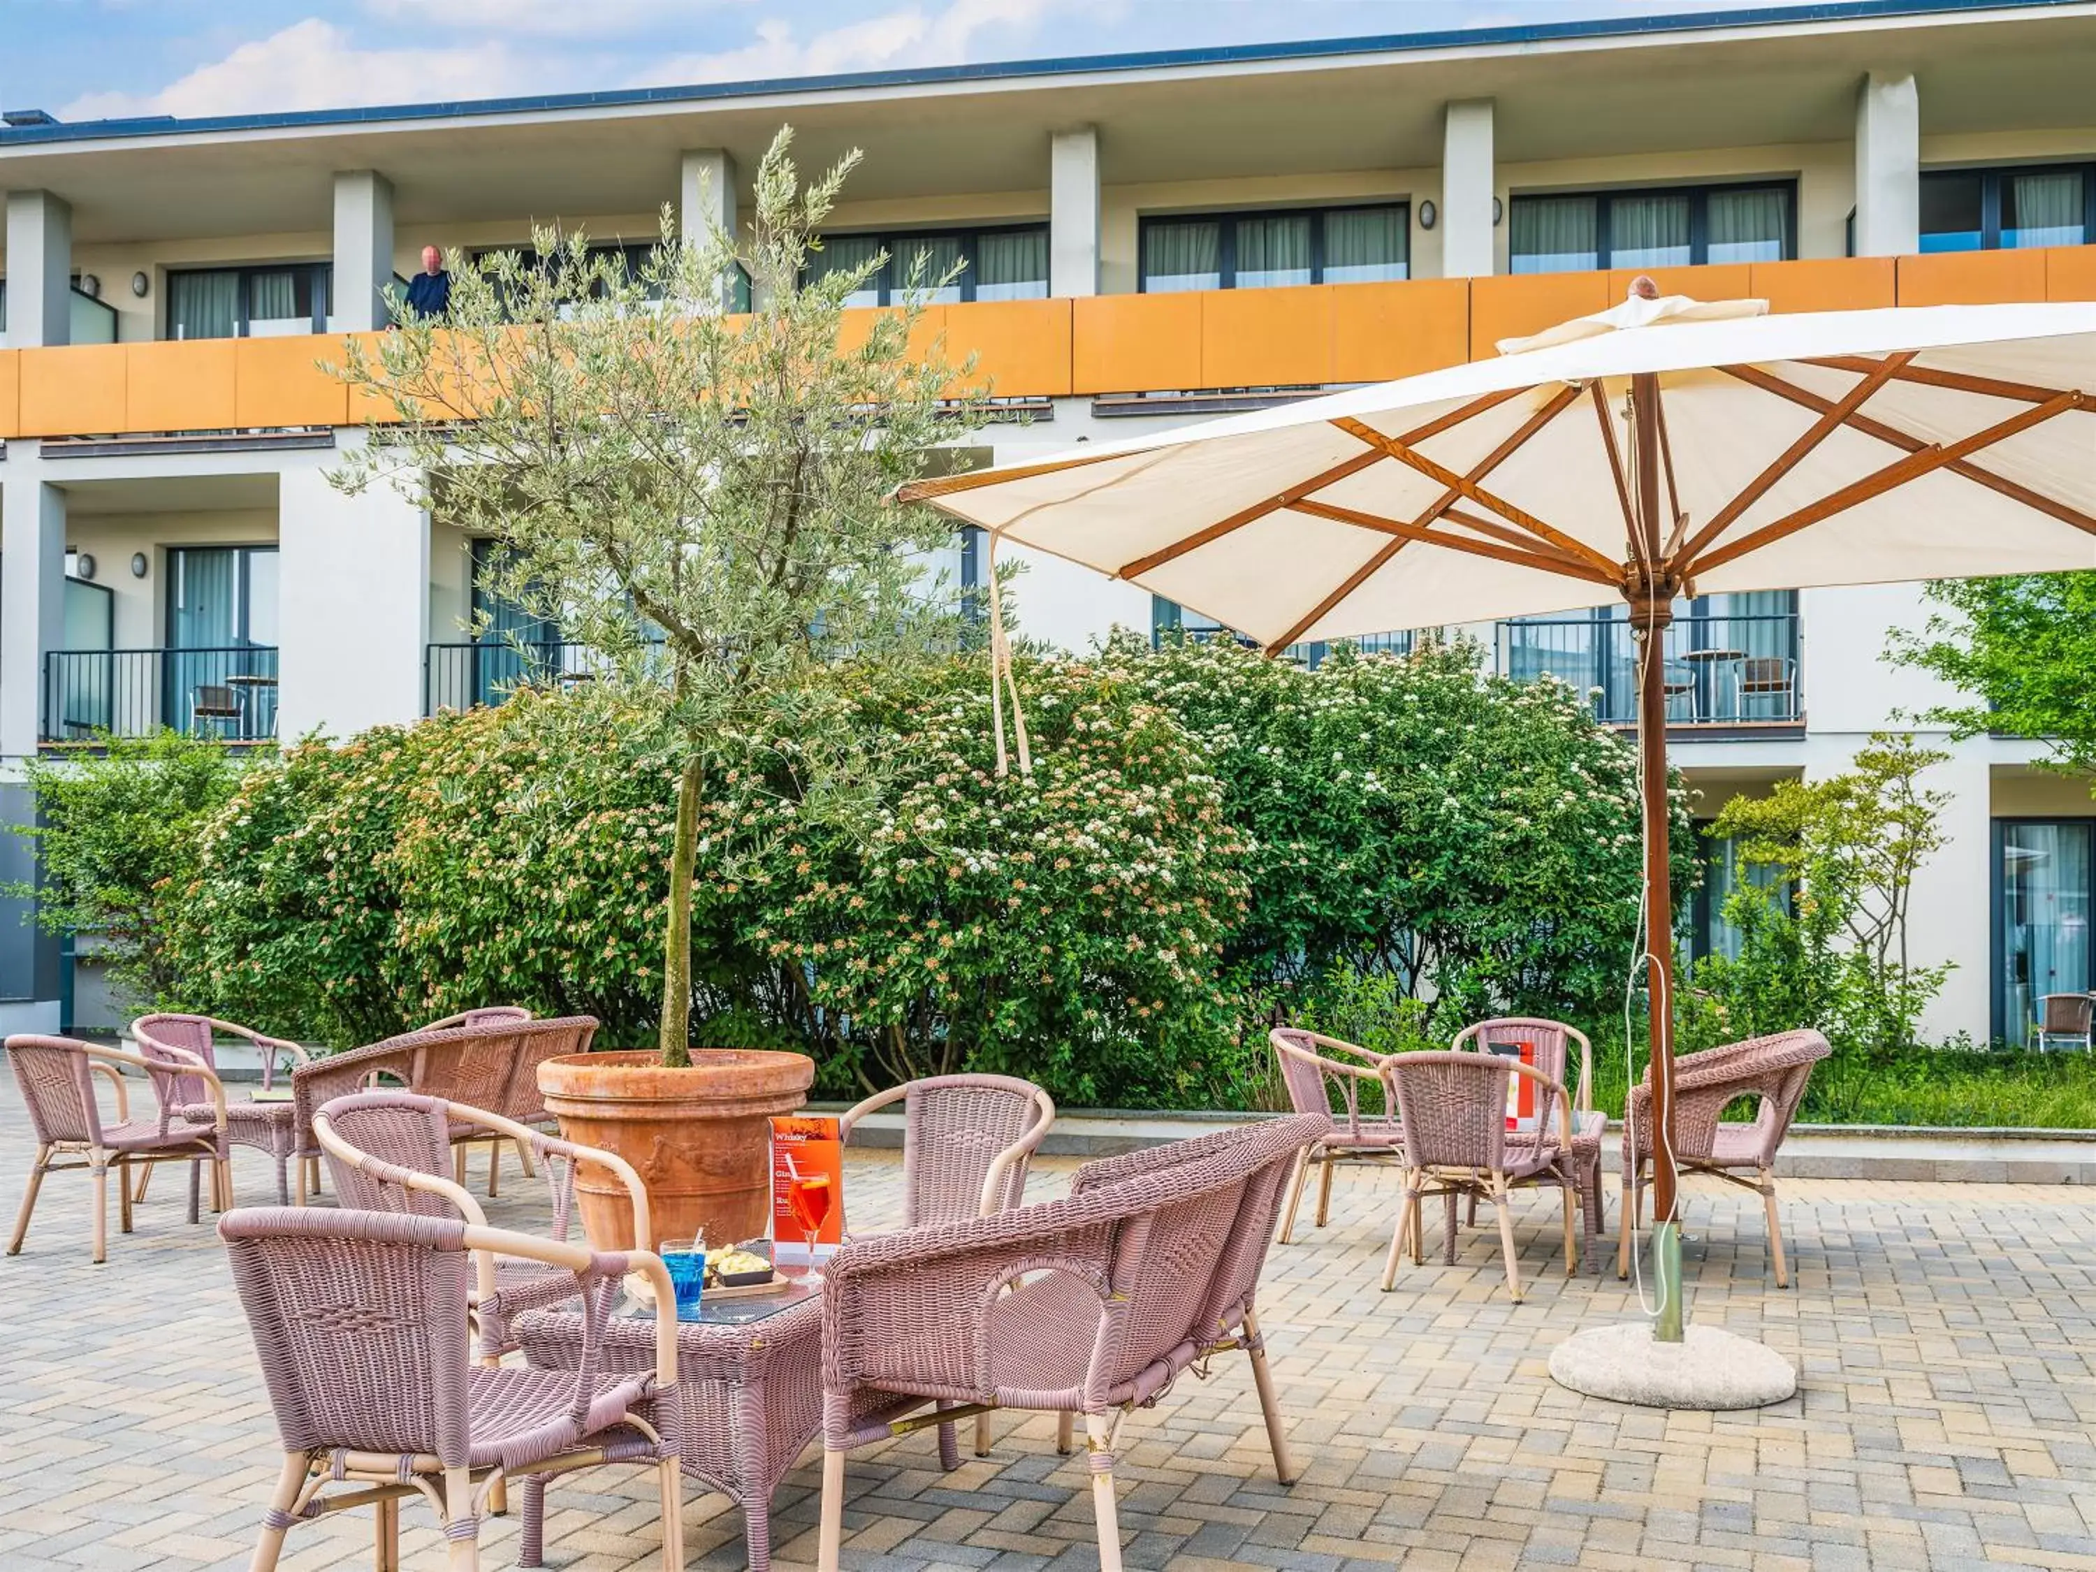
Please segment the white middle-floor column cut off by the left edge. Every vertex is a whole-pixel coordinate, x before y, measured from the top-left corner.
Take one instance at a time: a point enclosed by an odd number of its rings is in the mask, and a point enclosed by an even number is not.
[[[36,752],[44,656],[65,643],[65,493],[42,478],[36,446],[10,442],[0,474],[0,757],[6,759]]]

